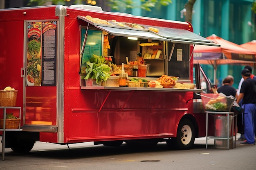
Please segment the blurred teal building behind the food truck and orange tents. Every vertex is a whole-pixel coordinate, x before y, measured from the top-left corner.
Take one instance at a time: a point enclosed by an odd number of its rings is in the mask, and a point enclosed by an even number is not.
[[[133,0],[138,5],[140,0]],[[63,0],[61,4],[75,4],[77,0]],[[111,11],[107,5],[107,0],[80,0],[83,4],[95,4],[102,7],[103,11]],[[156,4],[151,11],[141,8],[112,10],[113,12],[124,12],[132,15],[147,16],[153,18],[162,18],[168,20],[185,21],[186,9],[184,5],[188,0],[172,0],[168,6]],[[194,33],[203,37],[216,34],[219,37],[243,44],[256,39],[256,14],[252,11],[252,2],[254,0],[196,0],[193,7],[192,25]],[[29,4],[29,0],[0,0],[0,8],[29,7],[36,4]],[[46,5],[52,4],[47,2]],[[225,64],[217,68],[217,81],[219,86],[227,75],[234,76],[234,87],[238,88],[241,78],[240,71],[245,65]],[[207,76],[213,82],[213,66],[202,65]],[[253,69],[253,73],[255,73]],[[255,73],[256,74],[256,73]]]

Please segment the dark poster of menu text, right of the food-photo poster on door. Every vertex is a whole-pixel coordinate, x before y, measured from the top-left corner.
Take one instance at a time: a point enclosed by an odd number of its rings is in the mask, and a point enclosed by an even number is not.
[[[42,28],[42,85],[56,86],[57,22],[43,22]]]

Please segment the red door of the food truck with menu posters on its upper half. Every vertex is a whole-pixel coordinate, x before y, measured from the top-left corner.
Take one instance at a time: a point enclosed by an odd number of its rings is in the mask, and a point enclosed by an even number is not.
[[[22,129],[52,132],[56,130],[52,126],[56,126],[57,22],[25,22],[24,25],[26,70]]]

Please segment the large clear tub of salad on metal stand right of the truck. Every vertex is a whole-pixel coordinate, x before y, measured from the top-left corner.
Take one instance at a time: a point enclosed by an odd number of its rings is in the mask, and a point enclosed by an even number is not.
[[[204,109],[214,112],[229,112],[235,99],[220,94],[201,94]]]

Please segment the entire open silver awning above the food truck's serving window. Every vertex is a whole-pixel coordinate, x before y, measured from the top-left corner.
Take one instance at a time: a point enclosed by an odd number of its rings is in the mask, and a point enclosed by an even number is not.
[[[85,16],[78,15],[79,19],[84,20],[95,26],[102,31],[108,32],[110,35],[122,36],[122,37],[137,37],[150,40],[160,40],[168,41],[173,43],[182,43],[182,44],[199,44],[199,45],[208,45],[208,46],[220,46],[220,44],[215,44],[211,40],[197,35],[189,30],[184,29],[174,29],[160,26],[151,26],[159,29],[158,33],[151,31],[148,27],[149,25],[142,25],[144,29],[135,29],[128,28],[127,26],[118,26],[116,23],[108,21],[110,24],[95,23],[86,18]]]

